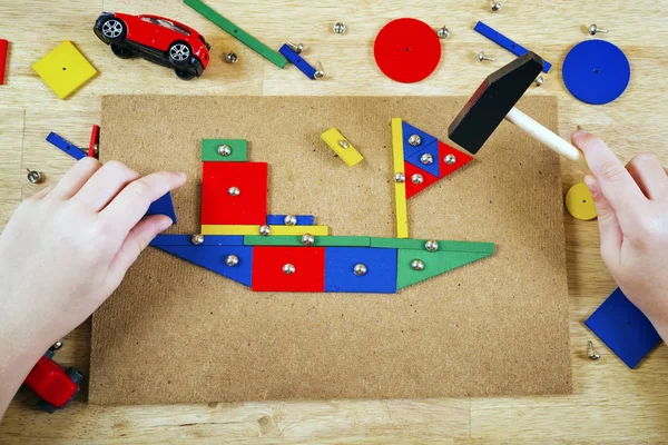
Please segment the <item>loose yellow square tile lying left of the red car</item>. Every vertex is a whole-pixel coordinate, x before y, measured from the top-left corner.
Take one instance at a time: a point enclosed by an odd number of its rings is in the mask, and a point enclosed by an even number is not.
[[[35,62],[32,69],[60,99],[67,98],[97,75],[92,65],[69,40]]]

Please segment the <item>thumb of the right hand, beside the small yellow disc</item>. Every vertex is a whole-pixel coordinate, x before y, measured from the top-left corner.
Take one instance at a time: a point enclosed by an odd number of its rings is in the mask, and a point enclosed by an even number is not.
[[[599,182],[593,176],[587,175],[584,177],[584,184],[589,187],[589,190],[593,196],[593,205],[596,206],[596,212],[598,214],[598,225],[601,236],[601,256],[607,261],[613,261],[611,264],[618,264],[623,235],[619,227],[615,208],[612,208],[608,199],[606,199],[606,196],[601,192]]]

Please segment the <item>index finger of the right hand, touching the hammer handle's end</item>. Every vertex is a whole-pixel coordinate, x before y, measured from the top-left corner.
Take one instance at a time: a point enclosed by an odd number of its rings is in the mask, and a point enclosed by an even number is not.
[[[622,227],[627,222],[632,227],[635,215],[644,207],[647,198],[631,175],[608,146],[596,136],[577,131],[572,136],[572,141],[584,154],[601,192],[617,210]]]

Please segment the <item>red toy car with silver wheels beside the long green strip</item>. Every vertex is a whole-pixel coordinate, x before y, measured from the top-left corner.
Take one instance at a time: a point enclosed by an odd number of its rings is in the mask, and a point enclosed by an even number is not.
[[[202,76],[209,62],[210,46],[204,37],[193,28],[164,17],[102,12],[92,30],[121,59],[141,56],[174,68],[179,79]]]

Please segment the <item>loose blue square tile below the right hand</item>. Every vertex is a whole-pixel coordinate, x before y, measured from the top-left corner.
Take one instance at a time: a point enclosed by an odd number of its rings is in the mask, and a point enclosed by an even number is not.
[[[649,319],[617,288],[584,322],[629,368],[645,357],[661,337]]]

